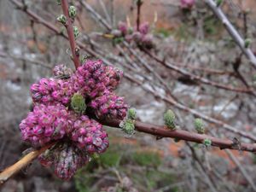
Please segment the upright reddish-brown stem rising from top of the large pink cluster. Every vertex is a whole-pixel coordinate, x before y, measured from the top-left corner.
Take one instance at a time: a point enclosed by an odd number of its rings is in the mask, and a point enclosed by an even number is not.
[[[72,51],[72,55],[73,55],[73,63],[75,65],[76,68],[79,67],[79,53],[77,51],[77,46],[76,46],[76,41],[75,41],[75,37],[73,35],[73,20],[69,17],[68,15],[68,3],[67,0],[61,0],[61,7],[63,10],[63,14],[66,16],[67,18],[67,23],[66,23],[66,28],[67,28],[67,35],[68,35],[68,40],[70,43],[70,47],[71,47],[71,51]]]

